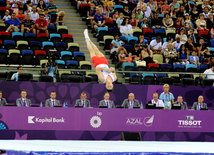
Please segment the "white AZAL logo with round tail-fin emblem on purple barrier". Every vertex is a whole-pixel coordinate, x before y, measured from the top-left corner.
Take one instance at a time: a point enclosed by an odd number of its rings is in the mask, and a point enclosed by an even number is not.
[[[150,127],[153,124],[154,121],[154,115],[151,117],[145,117],[143,118],[127,118],[126,124],[127,125],[145,125],[147,127]]]

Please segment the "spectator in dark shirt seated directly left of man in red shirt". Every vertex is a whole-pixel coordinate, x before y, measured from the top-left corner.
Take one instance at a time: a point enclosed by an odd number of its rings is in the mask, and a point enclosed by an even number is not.
[[[36,30],[34,29],[34,21],[30,19],[30,15],[27,14],[26,18],[23,19],[21,23],[21,32],[24,33],[29,33],[33,32],[36,34]]]

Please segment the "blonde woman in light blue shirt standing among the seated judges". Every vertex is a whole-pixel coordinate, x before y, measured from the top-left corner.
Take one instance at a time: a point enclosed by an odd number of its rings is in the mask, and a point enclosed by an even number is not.
[[[169,92],[169,85],[164,84],[163,90],[164,92],[160,94],[159,99],[161,99],[164,103],[164,109],[171,109],[171,105],[174,104],[174,95]]]

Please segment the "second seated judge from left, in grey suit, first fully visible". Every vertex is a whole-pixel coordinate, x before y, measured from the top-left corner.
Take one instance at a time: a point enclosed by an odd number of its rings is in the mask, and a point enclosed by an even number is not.
[[[30,107],[31,106],[31,101],[30,99],[27,99],[27,91],[22,90],[21,91],[21,98],[18,98],[16,100],[16,105],[19,107]]]

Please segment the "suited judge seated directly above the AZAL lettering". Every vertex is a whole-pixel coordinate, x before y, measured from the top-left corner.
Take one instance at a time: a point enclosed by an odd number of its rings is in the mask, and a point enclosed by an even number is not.
[[[132,109],[133,107],[140,107],[139,101],[134,98],[135,98],[134,94],[129,93],[129,98],[123,101],[122,107],[127,109],[128,108]]]

